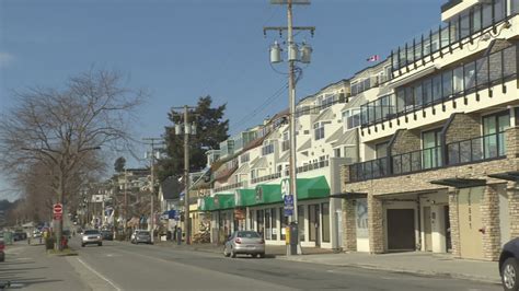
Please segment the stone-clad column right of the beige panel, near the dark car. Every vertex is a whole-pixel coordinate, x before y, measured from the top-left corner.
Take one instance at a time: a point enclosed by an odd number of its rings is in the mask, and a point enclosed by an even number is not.
[[[498,185],[487,185],[481,203],[481,222],[483,232],[483,257],[488,260],[499,259],[499,194]]]

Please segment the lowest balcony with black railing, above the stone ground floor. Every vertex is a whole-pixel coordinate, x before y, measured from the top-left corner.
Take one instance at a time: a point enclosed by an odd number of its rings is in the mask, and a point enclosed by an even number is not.
[[[423,149],[348,166],[349,183],[413,174],[440,167],[478,163],[506,156],[505,132],[497,132],[445,147]]]

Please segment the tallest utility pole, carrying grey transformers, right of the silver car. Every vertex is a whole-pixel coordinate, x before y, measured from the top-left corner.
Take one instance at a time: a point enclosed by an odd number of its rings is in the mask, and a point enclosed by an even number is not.
[[[289,154],[289,189],[288,194],[292,199],[292,213],[289,217],[291,224],[298,229],[297,232],[297,249],[293,249],[290,245],[287,247],[287,255],[301,254],[301,242],[299,235],[299,214],[298,214],[298,195],[297,195],[297,161],[296,161],[296,61],[302,63],[310,63],[310,56],[312,48],[305,43],[302,44],[299,50],[298,45],[293,40],[293,31],[310,31],[312,36],[315,27],[313,26],[293,26],[292,21],[292,5],[295,4],[310,4],[310,0],[270,0],[272,4],[286,4],[287,5],[287,22],[285,26],[267,26],[263,28],[263,33],[266,35],[267,31],[278,31],[279,35],[282,35],[284,31],[287,31],[287,46],[288,46],[288,103],[289,103],[289,132],[290,132],[290,154]],[[281,49],[280,46],[275,43],[270,48],[270,62],[281,62]],[[299,69],[299,68],[298,68]],[[287,205],[285,206],[287,210]]]

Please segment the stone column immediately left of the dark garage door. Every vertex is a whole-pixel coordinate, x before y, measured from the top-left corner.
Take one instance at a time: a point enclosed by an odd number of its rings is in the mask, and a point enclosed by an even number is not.
[[[368,194],[369,252],[371,254],[384,253],[383,218],[382,200]]]

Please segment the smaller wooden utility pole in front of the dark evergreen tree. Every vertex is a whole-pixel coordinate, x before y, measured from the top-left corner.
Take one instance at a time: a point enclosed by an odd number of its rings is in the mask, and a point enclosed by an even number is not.
[[[183,107],[173,107],[173,109],[184,109],[184,130],[182,125],[175,125],[175,135],[184,133],[184,229],[186,233],[186,244],[191,244],[191,221],[189,221],[189,135],[196,135],[196,125],[189,125],[189,109],[195,107],[184,105]],[[181,238],[182,240],[182,238]]]

